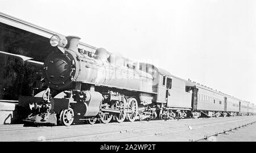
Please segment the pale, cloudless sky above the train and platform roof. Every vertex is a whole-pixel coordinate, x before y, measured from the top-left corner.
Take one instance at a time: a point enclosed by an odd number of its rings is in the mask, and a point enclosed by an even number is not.
[[[256,104],[254,0],[0,0],[0,11]]]

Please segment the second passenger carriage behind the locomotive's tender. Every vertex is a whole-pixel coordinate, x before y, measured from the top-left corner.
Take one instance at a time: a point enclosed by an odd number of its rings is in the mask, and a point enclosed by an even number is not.
[[[225,95],[225,111],[229,116],[236,116],[239,113],[240,100],[235,97]],[[226,114],[225,113],[225,114]]]

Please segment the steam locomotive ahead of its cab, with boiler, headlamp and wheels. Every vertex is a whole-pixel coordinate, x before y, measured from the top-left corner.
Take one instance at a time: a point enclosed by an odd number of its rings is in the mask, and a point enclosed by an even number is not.
[[[156,92],[154,75],[143,71],[142,64],[104,48],[95,53],[79,49],[79,40],[52,36],[50,43],[58,49],[42,65],[42,81],[48,88],[34,97],[20,97],[19,106],[31,109],[24,121],[71,125],[74,120],[94,124],[127,118],[133,122],[138,112],[148,113]]]

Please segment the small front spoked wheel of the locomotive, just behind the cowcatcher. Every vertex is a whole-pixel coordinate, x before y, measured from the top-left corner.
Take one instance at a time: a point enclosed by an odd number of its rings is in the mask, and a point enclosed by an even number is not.
[[[60,113],[60,122],[62,125],[69,126],[74,121],[74,111],[72,108],[64,109]]]

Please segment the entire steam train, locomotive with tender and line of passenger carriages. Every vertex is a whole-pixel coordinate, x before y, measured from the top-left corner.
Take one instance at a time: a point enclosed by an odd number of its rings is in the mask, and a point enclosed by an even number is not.
[[[177,78],[150,63],[138,63],[98,48],[78,48],[80,38],[54,35],[57,51],[45,59],[42,82],[48,88],[20,96],[29,110],[24,121],[71,125],[77,121],[130,122],[161,118],[220,117],[252,114],[249,102]],[[40,65],[40,63],[37,63]]]

